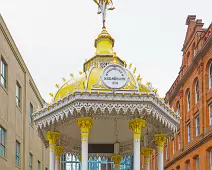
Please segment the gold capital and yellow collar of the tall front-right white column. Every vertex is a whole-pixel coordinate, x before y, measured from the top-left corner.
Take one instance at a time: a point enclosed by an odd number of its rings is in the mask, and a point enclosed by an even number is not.
[[[134,140],[140,139],[142,128],[146,127],[146,120],[136,118],[129,122],[129,127],[134,132]]]

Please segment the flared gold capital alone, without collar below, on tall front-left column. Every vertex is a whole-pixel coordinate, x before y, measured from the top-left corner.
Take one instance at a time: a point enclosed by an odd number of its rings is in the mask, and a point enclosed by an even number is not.
[[[78,126],[82,133],[89,133],[93,126],[93,119],[90,117],[78,118]]]

